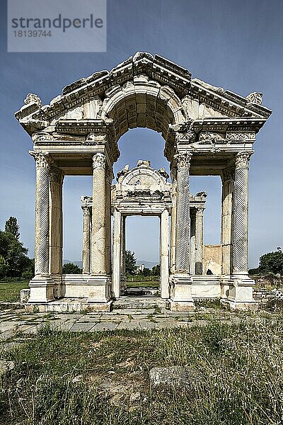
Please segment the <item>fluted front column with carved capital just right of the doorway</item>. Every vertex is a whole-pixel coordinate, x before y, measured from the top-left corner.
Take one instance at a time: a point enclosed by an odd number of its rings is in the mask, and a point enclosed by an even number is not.
[[[190,271],[190,159],[191,153],[176,156],[177,212],[176,212],[176,267],[177,273]]]

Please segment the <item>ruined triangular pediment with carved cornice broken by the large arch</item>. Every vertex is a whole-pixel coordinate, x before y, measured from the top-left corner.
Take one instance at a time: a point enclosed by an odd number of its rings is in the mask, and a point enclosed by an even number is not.
[[[117,107],[121,99],[123,102],[127,96],[129,99],[130,96],[137,99],[139,94],[141,97],[144,96],[140,99],[141,105],[146,105],[149,99],[152,107],[154,98],[158,98],[159,103],[156,101],[154,106],[155,116],[158,113],[159,115],[165,113],[161,106],[169,103],[172,98],[173,113],[169,113],[168,116],[168,122],[171,124],[206,118],[239,117],[266,120],[271,113],[269,109],[261,105],[262,95],[259,93],[246,97],[234,94],[200,79],[192,79],[187,69],[159,55],[152,56],[146,52],[137,52],[110,72],[95,72],[89,77],[67,85],[62,90],[62,94],[52,99],[49,105],[42,106],[37,95],[28,94],[25,98],[25,106],[15,115],[30,134],[55,126],[64,120],[111,118],[115,121],[117,116],[110,112],[111,108]],[[111,102],[112,106],[109,106]],[[131,102],[128,102],[128,107],[136,108]],[[137,100],[136,103],[138,103]],[[125,111],[127,114],[128,111],[126,109]],[[132,126],[146,127],[148,125],[146,120],[138,120],[136,116]],[[132,128],[131,125],[129,128]],[[159,131],[158,125],[156,127],[149,125],[149,128]]]

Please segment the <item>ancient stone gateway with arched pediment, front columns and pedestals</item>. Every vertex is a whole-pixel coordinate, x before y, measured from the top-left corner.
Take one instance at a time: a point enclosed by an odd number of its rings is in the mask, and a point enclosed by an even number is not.
[[[170,261],[167,248],[161,250],[161,296],[168,297],[172,310],[190,310],[195,298],[215,296],[231,308],[253,306],[253,280],[248,277],[248,168],[255,135],[271,113],[261,103],[260,93],[244,98],[224,91],[144,52],[110,72],[96,72],[66,86],[50,105],[42,106],[38,96],[28,94],[16,118],[33,139],[30,154],[36,163],[35,277],[30,280],[29,304],[42,310],[58,305],[67,310],[68,300],[75,298],[78,309],[83,305],[109,310],[119,296],[120,233],[122,217],[127,215],[123,210],[127,196],[119,196],[127,172],[111,190],[112,166],[120,154],[120,137],[130,128],[146,127],[161,132],[172,179],[171,196],[166,199],[163,171],[147,167],[153,179],[154,173],[159,174],[156,184],[163,185],[163,196],[157,200],[163,210],[156,212],[163,229],[171,215],[170,238],[161,236],[163,246],[167,238],[171,245]],[[130,185],[137,169],[129,173]],[[64,175],[93,176],[91,215],[84,209],[81,275],[62,275]],[[222,266],[214,279],[197,274],[202,241],[199,237],[197,249],[192,249],[192,228],[200,229],[202,208],[196,214],[197,225],[192,225],[190,175],[221,176]],[[147,207],[154,210],[153,196],[149,200],[141,213]],[[135,208],[133,200],[130,208]],[[112,265],[111,210],[115,215]]]

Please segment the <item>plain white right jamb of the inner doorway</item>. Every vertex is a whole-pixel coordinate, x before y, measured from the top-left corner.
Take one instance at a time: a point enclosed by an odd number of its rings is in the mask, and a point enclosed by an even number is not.
[[[161,213],[160,226],[160,268],[161,268],[161,298],[169,298],[169,212]]]

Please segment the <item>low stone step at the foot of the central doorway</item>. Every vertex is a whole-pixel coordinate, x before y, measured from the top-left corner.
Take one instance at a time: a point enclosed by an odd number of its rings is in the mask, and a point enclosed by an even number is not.
[[[168,300],[160,297],[144,296],[132,297],[129,295],[122,296],[113,302],[113,308],[169,308]]]

